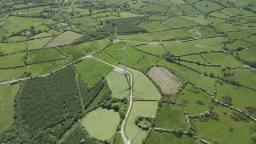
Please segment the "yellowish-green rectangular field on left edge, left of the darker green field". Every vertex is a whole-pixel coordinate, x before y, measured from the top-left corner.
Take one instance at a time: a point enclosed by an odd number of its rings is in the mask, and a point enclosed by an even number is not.
[[[25,50],[24,43],[0,43],[0,51],[3,53],[19,52]]]

